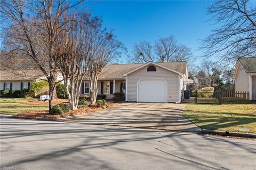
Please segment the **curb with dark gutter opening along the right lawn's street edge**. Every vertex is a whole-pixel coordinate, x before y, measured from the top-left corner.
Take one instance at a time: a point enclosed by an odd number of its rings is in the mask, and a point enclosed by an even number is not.
[[[241,133],[241,132],[228,132],[228,131],[215,131],[210,129],[202,129],[203,134],[221,135],[221,136],[235,136],[246,137],[256,139],[256,134],[253,133]]]

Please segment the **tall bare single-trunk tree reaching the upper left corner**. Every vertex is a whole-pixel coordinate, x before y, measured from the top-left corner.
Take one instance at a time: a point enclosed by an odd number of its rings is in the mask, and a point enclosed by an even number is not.
[[[53,60],[54,43],[61,29],[59,19],[66,11],[82,1],[65,0],[2,0],[0,1],[1,22],[7,50],[28,56],[41,70],[49,82],[49,111],[51,101],[57,98],[55,85],[57,67]]]

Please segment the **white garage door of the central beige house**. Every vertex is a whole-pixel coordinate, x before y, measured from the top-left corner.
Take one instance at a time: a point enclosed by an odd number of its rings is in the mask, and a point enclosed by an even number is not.
[[[138,102],[167,102],[166,82],[163,79],[142,79],[137,89]]]

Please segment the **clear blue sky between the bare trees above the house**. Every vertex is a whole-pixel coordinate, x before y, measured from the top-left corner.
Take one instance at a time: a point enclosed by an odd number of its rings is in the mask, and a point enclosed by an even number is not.
[[[211,1],[89,1],[93,15],[103,19],[103,26],[113,28],[128,52],[134,43],[154,41],[173,35],[181,44],[190,47],[195,56],[199,39],[214,29],[206,8]],[[197,63],[201,62],[197,59]],[[119,60],[126,63],[126,55]]]

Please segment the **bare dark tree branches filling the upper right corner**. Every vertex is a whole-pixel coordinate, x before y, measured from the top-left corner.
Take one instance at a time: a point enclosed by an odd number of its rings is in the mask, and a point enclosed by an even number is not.
[[[249,0],[216,1],[208,9],[211,21],[221,24],[202,41],[205,57],[235,61],[256,55],[256,5]]]

